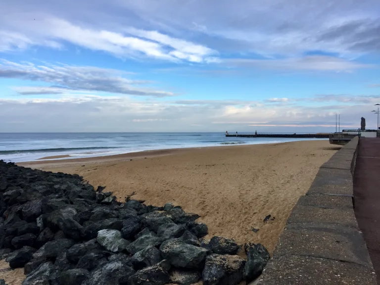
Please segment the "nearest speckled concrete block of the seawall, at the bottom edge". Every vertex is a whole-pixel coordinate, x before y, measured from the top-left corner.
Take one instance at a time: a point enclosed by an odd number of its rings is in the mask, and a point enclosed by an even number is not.
[[[375,271],[355,263],[286,255],[269,261],[257,285],[377,285]]]

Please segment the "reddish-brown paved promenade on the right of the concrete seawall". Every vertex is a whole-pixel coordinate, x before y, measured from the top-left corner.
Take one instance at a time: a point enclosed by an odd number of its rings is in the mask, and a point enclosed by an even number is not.
[[[380,284],[380,138],[361,138],[354,173],[355,215]]]

